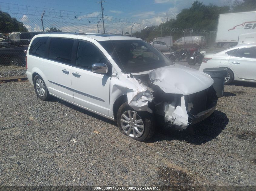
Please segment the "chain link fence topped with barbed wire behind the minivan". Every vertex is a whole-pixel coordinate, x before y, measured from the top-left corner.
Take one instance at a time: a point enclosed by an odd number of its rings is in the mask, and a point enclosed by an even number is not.
[[[1,16],[10,17],[10,12],[2,12]],[[99,15],[88,14],[86,17],[75,15],[72,19],[51,17],[49,14],[41,18],[39,13],[10,13],[17,24],[0,21],[0,78],[6,76],[25,75],[25,56],[30,40],[36,34],[45,32],[103,33],[103,22]],[[139,37],[154,46],[158,41],[178,48],[210,48],[214,44],[215,31],[178,29],[168,27],[147,27],[141,23],[113,18],[104,19],[105,33]],[[158,48],[158,47],[157,47]],[[164,50],[164,51],[169,51]],[[20,68],[20,69],[19,69]],[[21,72],[22,71],[22,72]]]

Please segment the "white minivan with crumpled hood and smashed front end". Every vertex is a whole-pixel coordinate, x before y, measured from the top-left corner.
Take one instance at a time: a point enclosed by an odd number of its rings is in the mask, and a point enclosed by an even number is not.
[[[40,34],[26,60],[40,99],[55,96],[117,121],[122,133],[139,141],[154,135],[156,121],[186,129],[211,115],[218,100],[209,75],[171,62],[134,37]]]

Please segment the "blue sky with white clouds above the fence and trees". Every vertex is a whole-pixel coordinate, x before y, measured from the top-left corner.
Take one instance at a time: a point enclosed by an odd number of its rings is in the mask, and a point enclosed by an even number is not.
[[[44,21],[46,19],[55,19],[55,21],[45,22],[45,30],[56,27],[63,32],[97,33],[97,22],[101,19],[101,5],[97,3],[99,1],[0,0],[0,10],[17,18],[30,32],[42,32],[40,18],[43,10],[46,10]],[[105,0],[102,3],[107,30],[105,32],[120,34],[125,31],[131,32],[134,23],[137,24],[133,28],[134,32],[159,25],[163,21],[175,18],[182,9],[189,8],[193,2],[194,0]],[[212,3],[222,6],[229,5],[233,0],[199,0],[199,2],[203,2],[204,5]],[[33,14],[35,15],[32,16]],[[68,15],[68,18],[65,15]],[[37,20],[33,20],[34,18]],[[58,18],[62,19],[58,20]],[[121,24],[118,21],[121,21]],[[102,19],[99,23],[99,32],[103,32]]]

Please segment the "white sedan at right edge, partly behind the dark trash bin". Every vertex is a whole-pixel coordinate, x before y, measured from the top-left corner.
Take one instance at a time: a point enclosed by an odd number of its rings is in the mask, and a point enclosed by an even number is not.
[[[256,44],[239,44],[213,54],[206,54],[199,68],[227,68],[225,84],[232,81],[256,82]]]

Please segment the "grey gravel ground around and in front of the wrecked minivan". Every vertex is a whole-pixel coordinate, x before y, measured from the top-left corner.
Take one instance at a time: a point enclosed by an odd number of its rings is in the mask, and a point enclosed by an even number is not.
[[[255,90],[225,86],[208,119],[138,142],[28,81],[0,84],[0,185],[256,185]]]

